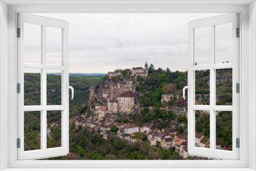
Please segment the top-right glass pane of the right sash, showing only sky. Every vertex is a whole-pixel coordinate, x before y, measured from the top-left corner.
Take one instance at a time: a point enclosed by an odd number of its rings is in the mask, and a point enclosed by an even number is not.
[[[215,63],[232,62],[232,23],[215,26]]]

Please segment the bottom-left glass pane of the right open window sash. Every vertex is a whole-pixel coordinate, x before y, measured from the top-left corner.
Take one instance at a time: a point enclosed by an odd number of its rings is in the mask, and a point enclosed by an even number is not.
[[[210,148],[210,111],[195,111],[195,146]]]

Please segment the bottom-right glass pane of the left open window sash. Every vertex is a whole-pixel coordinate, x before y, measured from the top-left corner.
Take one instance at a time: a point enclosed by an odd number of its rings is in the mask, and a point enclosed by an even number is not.
[[[61,111],[47,111],[47,148],[61,147]]]

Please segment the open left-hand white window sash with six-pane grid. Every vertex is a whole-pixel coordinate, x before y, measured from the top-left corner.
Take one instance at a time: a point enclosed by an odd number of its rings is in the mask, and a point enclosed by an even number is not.
[[[24,62],[24,23],[41,26],[41,60],[40,63]],[[47,65],[47,27],[61,29],[61,65]],[[65,156],[69,153],[69,23],[65,20],[42,17],[38,15],[17,14],[17,83],[20,93],[17,94],[17,159],[41,159]],[[40,69],[40,105],[24,105],[24,69]],[[47,70],[61,72],[61,105],[47,105]],[[24,112],[40,112],[40,149],[24,151]],[[47,111],[61,111],[61,146],[47,148]]]

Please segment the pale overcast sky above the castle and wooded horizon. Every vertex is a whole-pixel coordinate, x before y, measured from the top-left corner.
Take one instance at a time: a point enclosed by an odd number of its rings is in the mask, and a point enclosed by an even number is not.
[[[172,71],[186,70],[187,23],[189,20],[220,14],[52,13],[36,15],[69,22],[70,72],[107,73],[115,69],[144,67],[145,61],[148,65],[153,63],[155,68],[169,67]],[[205,34],[202,35],[205,36]],[[223,35],[226,33],[224,32]],[[53,42],[56,40],[48,51],[54,64],[60,55],[59,34],[51,34],[50,37]],[[230,44],[223,40],[221,42],[230,49]],[[203,48],[199,56],[200,60],[208,54],[203,40],[201,45],[199,47]],[[225,46],[220,46],[219,51],[223,53],[227,51],[225,49],[228,48]]]

